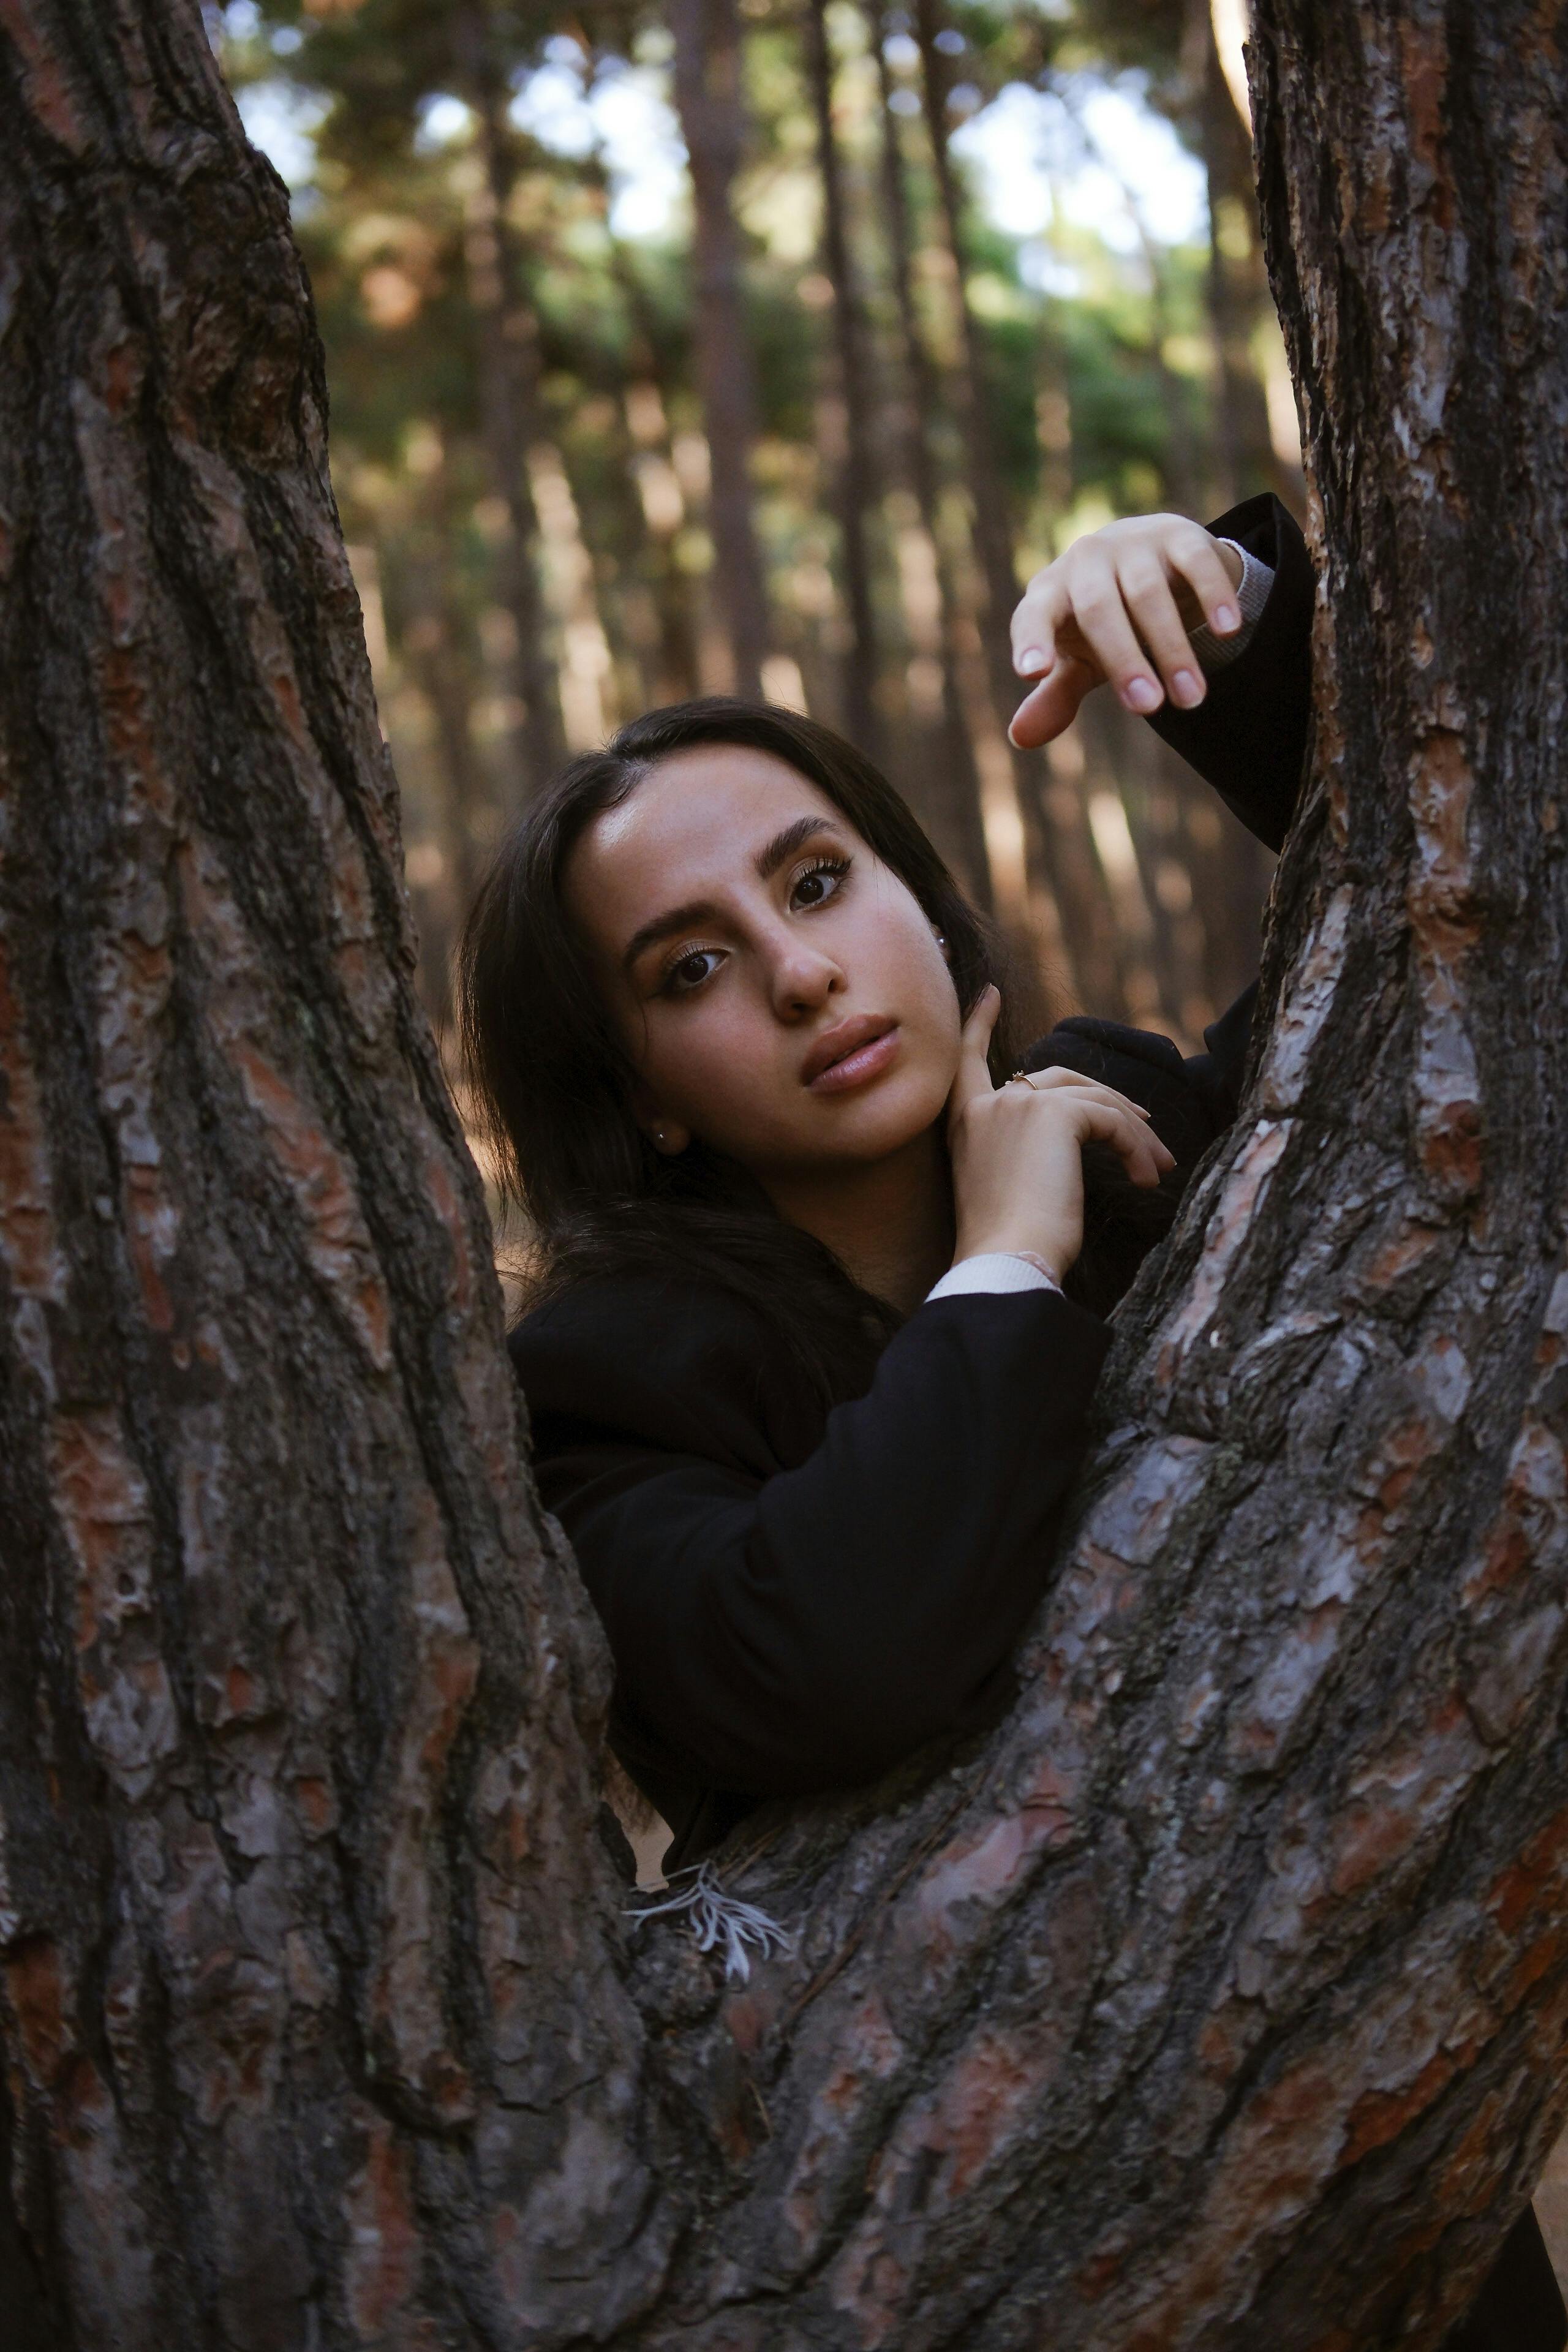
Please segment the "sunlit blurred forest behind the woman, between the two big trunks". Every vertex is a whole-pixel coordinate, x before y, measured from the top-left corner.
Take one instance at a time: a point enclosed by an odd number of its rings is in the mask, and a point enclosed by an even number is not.
[[[1025,1025],[1194,1047],[1269,861],[1110,696],[1016,755],[1020,583],[1112,515],[1300,513],[1244,0],[230,0],[292,191],[442,1035],[484,851],[651,703],[856,736]]]

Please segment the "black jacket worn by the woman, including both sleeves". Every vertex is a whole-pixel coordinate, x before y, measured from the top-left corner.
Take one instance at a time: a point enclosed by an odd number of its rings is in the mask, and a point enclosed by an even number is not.
[[[1222,515],[1276,581],[1246,654],[1159,731],[1279,849],[1309,713],[1312,567],[1272,499]],[[1237,1115],[1253,990],[1182,1058],[1065,1021],[1027,1056],[1143,1101],[1192,1164]],[[541,1498],[616,1661],[611,1743],[672,1828],[665,1867],[762,1797],[870,1780],[1009,1698],[1051,1566],[1110,1334],[1051,1291],[926,1303],[865,1397],[823,1414],[724,1289],[628,1277],[529,1315],[512,1362]],[[1450,2352],[1559,2352],[1540,2230],[1521,2220]]]

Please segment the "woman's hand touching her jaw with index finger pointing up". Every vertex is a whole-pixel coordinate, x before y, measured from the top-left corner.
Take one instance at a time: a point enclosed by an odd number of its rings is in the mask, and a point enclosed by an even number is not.
[[[1084,1247],[1084,1145],[1110,1143],[1140,1185],[1157,1185],[1175,1157],[1140,1103],[1077,1070],[992,1087],[985,1049],[999,1011],[1001,995],[987,988],[964,1023],[947,1096],[952,1263],[1016,1251],[1041,1258],[1060,1282]]]

